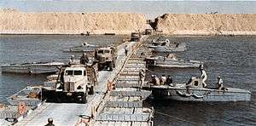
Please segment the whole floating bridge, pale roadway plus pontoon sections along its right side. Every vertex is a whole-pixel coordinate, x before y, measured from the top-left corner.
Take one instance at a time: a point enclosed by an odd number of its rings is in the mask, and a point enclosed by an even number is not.
[[[45,125],[48,117],[53,117],[55,125],[153,125],[154,110],[143,107],[143,100],[151,92],[140,89],[138,81],[139,72],[145,70],[145,62],[137,53],[140,45],[126,42],[118,46],[116,68],[113,72],[99,72],[96,93],[89,96],[88,103],[42,103],[15,123],[0,119],[0,125]],[[109,82],[114,89],[109,89]]]

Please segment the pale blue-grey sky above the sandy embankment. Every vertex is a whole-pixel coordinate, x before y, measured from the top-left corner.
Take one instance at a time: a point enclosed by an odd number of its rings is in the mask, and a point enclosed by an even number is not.
[[[131,12],[155,18],[166,13],[256,13],[253,1],[58,1],[1,0],[0,8],[25,12]]]

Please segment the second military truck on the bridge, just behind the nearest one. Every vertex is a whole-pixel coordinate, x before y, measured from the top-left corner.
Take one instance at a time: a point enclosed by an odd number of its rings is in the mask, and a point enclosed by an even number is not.
[[[116,60],[117,54],[114,47],[99,48],[95,51],[95,62],[98,64],[98,70],[108,67],[109,71],[113,71]]]

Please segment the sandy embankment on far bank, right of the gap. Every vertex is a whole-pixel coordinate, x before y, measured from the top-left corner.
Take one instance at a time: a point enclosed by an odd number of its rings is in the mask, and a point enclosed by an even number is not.
[[[163,14],[155,25],[170,35],[256,35],[256,14]]]

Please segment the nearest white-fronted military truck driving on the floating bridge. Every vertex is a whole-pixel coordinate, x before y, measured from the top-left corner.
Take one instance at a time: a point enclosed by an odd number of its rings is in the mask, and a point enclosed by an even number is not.
[[[58,100],[86,103],[97,85],[97,65],[62,66],[55,84]]]

